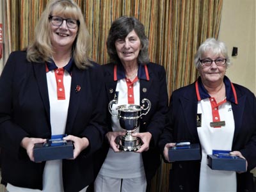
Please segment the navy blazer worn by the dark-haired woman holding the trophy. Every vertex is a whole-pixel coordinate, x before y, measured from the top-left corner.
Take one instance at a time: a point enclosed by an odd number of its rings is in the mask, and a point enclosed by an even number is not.
[[[114,81],[114,64],[102,65],[104,68],[104,77],[106,81],[106,92],[108,93],[108,102],[114,99],[117,81]],[[161,156],[157,146],[159,136],[163,131],[168,111],[168,93],[166,87],[166,75],[164,67],[156,63],[148,63],[149,81],[140,79],[140,100],[147,98],[151,102],[150,111],[147,115],[141,116],[140,132],[150,132],[152,140],[149,150],[142,152],[143,164],[148,184],[156,174],[157,168],[161,163]],[[140,104],[143,105],[142,103]],[[108,127],[111,128],[111,115],[108,113]],[[102,150],[99,151],[96,159],[99,161],[96,173],[99,172],[106,155],[108,154],[109,144],[106,141]]]

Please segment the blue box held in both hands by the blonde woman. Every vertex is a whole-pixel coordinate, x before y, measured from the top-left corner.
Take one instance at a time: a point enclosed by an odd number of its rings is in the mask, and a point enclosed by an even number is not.
[[[64,136],[55,135],[46,143],[36,143],[33,148],[35,162],[73,158],[73,142],[63,140]]]

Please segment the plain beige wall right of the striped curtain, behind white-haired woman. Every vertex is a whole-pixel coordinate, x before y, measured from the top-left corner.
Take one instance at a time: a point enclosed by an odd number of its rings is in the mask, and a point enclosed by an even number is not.
[[[249,88],[256,94],[256,30],[255,0],[223,0],[219,40],[225,42],[231,56],[233,47],[238,47],[237,56],[232,56],[232,66],[227,76],[233,83]]]

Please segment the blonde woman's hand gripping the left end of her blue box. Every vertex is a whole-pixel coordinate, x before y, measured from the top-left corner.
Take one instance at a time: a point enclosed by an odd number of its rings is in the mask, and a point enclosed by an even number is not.
[[[41,138],[23,138],[20,142],[20,146],[25,148],[27,151],[27,154],[29,156],[29,159],[31,161],[35,162],[34,159],[34,153],[33,153],[33,148],[35,146],[35,143],[44,143],[46,142],[46,139],[41,139]]]

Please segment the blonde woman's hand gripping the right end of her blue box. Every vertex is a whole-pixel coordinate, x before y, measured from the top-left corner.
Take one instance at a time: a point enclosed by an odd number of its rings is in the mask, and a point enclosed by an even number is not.
[[[87,148],[90,144],[87,138],[79,138],[73,135],[68,135],[67,137],[63,138],[63,140],[73,141],[73,144],[74,144],[73,159],[76,159],[76,157],[81,153],[81,151],[84,150],[84,148]]]

